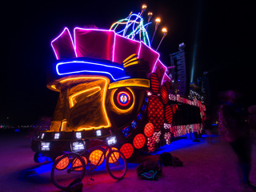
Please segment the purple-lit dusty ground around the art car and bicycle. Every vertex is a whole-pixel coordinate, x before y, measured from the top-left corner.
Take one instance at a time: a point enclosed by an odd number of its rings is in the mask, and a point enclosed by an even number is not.
[[[214,143],[191,142],[182,139],[164,146],[154,154],[140,154],[138,161],[129,164],[121,181],[110,178],[105,171],[94,175],[94,182],[83,179],[83,191],[238,191],[236,156],[227,143],[214,138]],[[137,177],[136,166],[147,159],[158,159],[168,151],[184,162],[183,167],[163,167],[158,181]],[[51,164],[37,164],[26,134],[0,132],[0,191],[59,191],[50,180]],[[28,171],[29,170],[29,171]],[[29,176],[29,177],[27,177]],[[253,146],[251,182],[256,184],[256,145]]]

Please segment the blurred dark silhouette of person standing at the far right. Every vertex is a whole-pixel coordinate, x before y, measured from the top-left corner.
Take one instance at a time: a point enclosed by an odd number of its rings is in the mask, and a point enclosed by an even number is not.
[[[246,112],[240,103],[242,94],[228,90],[225,92],[224,98],[226,98],[226,102],[220,106],[218,112],[219,133],[224,134],[226,141],[230,143],[238,156],[238,172],[242,172],[242,178],[239,178],[242,190],[256,191],[256,186],[249,180],[252,141]]]

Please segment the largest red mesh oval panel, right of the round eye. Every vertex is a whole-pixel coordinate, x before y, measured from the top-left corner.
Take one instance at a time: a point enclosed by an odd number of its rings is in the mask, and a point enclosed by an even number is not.
[[[147,110],[149,122],[154,125],[154,131],[162,130],[164,123],[164,109],[161,99],[153,95],[150,97],[150,102]]]

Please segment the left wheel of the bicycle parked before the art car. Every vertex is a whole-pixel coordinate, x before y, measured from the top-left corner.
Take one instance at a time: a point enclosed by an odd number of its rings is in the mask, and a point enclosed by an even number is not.
[[[76,178],[83,178],[86,173],[86,163],[79,154],[63,154],[54,161],[50,177],[54,186],[66,190]]]

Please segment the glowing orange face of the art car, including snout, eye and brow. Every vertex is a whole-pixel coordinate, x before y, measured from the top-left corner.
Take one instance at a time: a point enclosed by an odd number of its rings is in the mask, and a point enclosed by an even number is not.
[[[145,89],[149,86],[147,79],[126,79],[114,83],[103,76],[72,75],[58,79],[56,85],[51,85],[60,90],[52,129],[71,131],[122,127],[142,106]],[[65,127],[61,122],[66,122]]]

